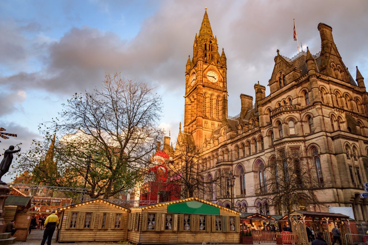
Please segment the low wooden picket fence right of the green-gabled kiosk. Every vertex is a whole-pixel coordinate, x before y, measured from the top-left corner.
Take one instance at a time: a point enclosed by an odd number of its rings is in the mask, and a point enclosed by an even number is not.
[[[298,239],[294,233],[281,233],[273,231],[252,231],[253,243],[273,243],[276,244],[276,237],[281,235],[283,244],[298,244]]]

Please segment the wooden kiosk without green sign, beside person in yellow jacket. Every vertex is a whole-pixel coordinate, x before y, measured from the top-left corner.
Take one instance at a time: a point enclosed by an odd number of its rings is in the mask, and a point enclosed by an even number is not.
[[[57,209],[59,242],[122,241],[127,239],[130,210],[102,199]]]

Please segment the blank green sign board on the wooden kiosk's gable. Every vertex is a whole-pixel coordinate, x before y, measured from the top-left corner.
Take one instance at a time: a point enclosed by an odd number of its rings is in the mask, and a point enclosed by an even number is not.
[[[220,215],[220,209],[202,202],[190,201],[170,204],[168,213],[192,213],[197,215]]]

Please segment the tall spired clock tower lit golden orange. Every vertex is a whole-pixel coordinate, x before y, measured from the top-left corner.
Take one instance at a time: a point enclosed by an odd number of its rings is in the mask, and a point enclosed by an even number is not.
[[[226,83],[226,56],[224,49],[219,54],[206,8],[185,70],[184,132],[192,134],[197,145],[227,118]]]

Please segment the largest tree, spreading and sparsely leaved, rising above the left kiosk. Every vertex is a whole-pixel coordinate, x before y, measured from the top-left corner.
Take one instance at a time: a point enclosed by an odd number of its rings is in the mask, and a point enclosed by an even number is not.
[[[86,158],[91,155],[91,198],[112,197],[141,180],[156,141],[163,137],[162,102],[152,89],[109,73],[101,89],[75,94],[63,107],[60,118],[47,123],[44,140],[34,141],[20,156],[18,171],[27,170],[44,184],[83,187]],[[49,131],[56,131],[56,139]],[[44,161],[50,144],[52,160]],[[50,174],[46,167],[51,162],[57,173]]]

